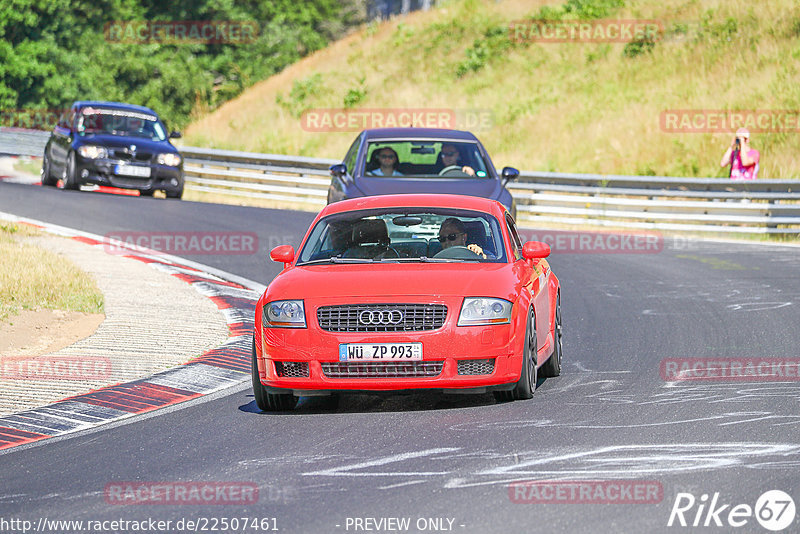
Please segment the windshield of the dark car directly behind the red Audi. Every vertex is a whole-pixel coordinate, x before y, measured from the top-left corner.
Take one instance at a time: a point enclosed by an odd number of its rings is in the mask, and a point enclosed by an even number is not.
[[[364,161],[359,174],[370,177],[491,178],[475,142],[372,141]]]

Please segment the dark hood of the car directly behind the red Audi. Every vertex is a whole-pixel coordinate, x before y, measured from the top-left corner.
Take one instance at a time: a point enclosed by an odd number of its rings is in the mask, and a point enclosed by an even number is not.
[[[366,196],[402,193],[451,193],[497,199],[502,188],[494,178],[373,178],[359,176],[356,186]]]

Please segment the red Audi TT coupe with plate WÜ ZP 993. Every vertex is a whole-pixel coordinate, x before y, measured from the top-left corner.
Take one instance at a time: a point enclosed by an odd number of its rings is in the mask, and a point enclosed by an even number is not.
[[[327,206],[256,305],[261,410],[338,392],[493,391],[561,371],[560,285],[501,203],[386,195]]]

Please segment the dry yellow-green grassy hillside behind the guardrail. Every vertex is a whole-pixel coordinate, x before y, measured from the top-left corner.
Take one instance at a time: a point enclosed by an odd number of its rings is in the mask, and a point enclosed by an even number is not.
[[[655,19],[656,42],[515,43],[512,21]],[[370,25],[193,123],[186,144],[340,158],[355,132],[304,110],[488,110],[498,167],[727,176],[729,133],[666,133],[670,109],[800,110],[795,0],[453,0]],[[795,115],[796,116],[796,115]],[[800,178],[798,133],[753,134],[761,178]]]

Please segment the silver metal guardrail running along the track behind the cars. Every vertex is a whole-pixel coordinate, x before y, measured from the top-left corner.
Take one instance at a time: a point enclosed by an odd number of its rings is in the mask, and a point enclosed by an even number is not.
[[[0,153],[41,155],[47,132],[0,129]],[[322,207],[339,160],[179,147],[186,189]],[[508,184],[522,222],[800,234],[800,180],[524,171]]]

